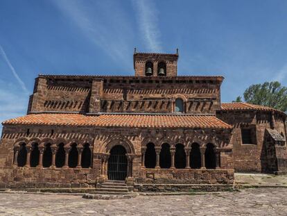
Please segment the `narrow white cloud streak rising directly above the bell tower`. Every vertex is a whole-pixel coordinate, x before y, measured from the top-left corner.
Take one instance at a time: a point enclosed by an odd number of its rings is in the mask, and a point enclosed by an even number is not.
[[[155,8],[155,3],[150,0],[134,0],[133,3],[146,47],[152,51],[162,51],[161,33],[158,26],[159,12]]]

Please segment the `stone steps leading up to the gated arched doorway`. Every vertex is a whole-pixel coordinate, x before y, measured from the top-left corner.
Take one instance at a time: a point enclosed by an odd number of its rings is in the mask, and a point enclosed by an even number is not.
[[[86,199],[130,199],[135,197],[132,187],[126,185],[125,181],[107,180],[98,184],[96,189],[85,194]]]

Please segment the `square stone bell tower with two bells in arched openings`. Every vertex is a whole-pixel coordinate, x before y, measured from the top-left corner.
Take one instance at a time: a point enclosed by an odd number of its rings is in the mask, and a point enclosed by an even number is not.
[[[176,53],[138,53],[134,48],[135,76],[177,76]]]

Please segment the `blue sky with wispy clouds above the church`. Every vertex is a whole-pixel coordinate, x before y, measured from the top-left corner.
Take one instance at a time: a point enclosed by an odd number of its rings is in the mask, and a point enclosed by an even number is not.
[[[134,47],[225,76],[222,101],[287,85],[287,1],[1,0],[0,121],[26,113],[37,74],[133,75]]]

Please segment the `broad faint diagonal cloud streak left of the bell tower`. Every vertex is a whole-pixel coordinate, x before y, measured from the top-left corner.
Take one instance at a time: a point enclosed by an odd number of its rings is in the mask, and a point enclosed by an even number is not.
[[[103,1],[55,0],[54,5],[96,46],[101,47],[115,62],[130,65],[132,50],[128,47],[132,28],[121,11],[121,3]],[[112,13],[112,15],[111,15]]]

